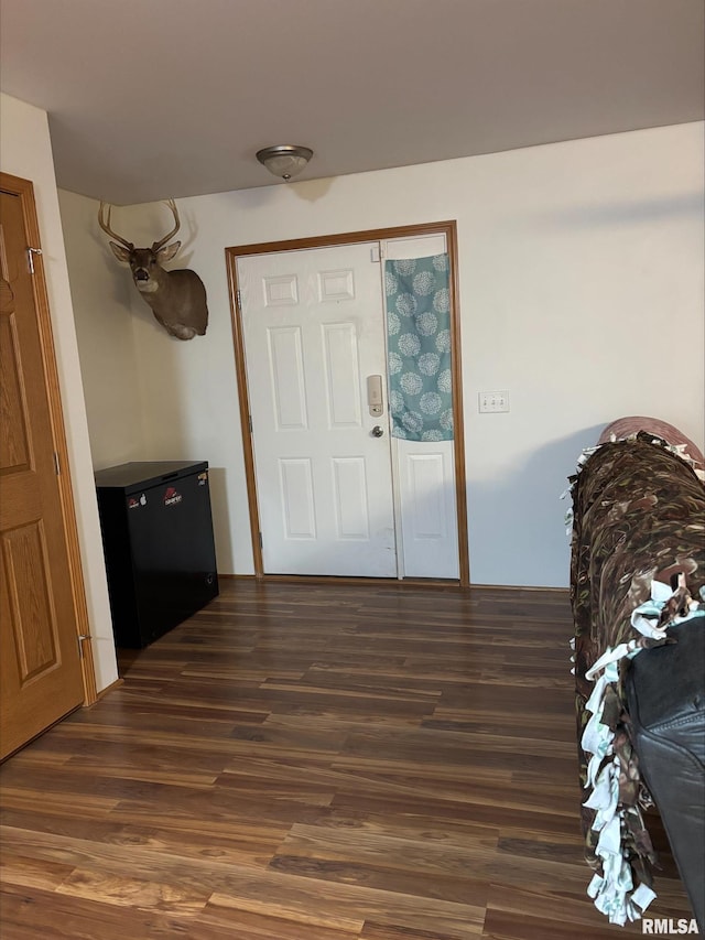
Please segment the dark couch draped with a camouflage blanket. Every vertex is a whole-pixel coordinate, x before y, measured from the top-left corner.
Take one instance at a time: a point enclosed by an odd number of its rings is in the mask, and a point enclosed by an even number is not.
[[[614,923],[639,919],[655,897],[643,815],[654,802],[705,927],[702,472],[703,455],[672,425],[622,419],[571,477],[588,894]]]

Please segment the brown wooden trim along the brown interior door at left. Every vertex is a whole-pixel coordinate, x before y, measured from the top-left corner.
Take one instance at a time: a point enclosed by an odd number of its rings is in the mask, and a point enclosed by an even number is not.
[[[22,205],[28,246],[41,249],[40,226],[36,215],[36,204],[34,201],[34,185],[32,182],[30,180],[23,180],[21,176],[13,176],[10,173],[0,173],[0,188],[10,195],[19,197]],[[32,277],[32,285],[34,291],[34,304],[37,313],[37,325],[42,347],[42,365],[44,367],[44,380],[48,400],[50,420],[52,424],[53,447],[57,454],[59,466],[59,473],[56,478],[58,483],[61,510],[64,523],[64,541],[68,554],[68,568],[70,572],[70,593],[76,620],[76,642],[80,651],[84,705],[91,705],[98,700],[98,693],[93,658],[90,622],[88,618],[83,564],[80,561],[80,545],[76,525],[76,506],[70,480],[70,463],[68,460],[68,446],[66,444],[66,428],[64,423],[58,370],[56,367],[54,334],[52,331],[52,317],[48,304],[48,292],[46,290],[43,256],[35,252],[33,255],[33,260],[34,275]]]

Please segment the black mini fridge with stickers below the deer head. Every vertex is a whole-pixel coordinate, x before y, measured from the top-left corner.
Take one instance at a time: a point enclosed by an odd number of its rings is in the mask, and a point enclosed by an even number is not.
[[[208,464],[120,464],[95,479],[116,646],[139,649],[218,594]]]

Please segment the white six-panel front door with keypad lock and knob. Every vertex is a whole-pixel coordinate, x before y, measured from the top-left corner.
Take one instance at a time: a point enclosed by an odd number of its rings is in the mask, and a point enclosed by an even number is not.
[[[237,261],[267,574],[397,576],[377,246]]]

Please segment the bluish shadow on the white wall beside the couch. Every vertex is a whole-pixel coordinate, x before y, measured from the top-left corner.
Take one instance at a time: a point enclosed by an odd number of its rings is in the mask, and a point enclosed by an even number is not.
[[[605,424],[553,441],[523,466],[492,480],[468,486],[470,582],[531,587],[567,587],[571,508],[567,477],[584,447],[593,446]],[[479,547],[481,545],[481,550]]]

